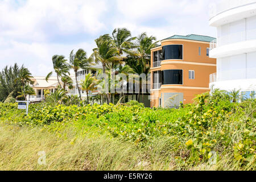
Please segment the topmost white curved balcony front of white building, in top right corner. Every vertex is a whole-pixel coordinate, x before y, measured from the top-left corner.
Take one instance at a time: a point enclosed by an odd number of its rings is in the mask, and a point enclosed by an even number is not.
[[[249,5],[250,3],[255,3],[255,0],[225,0],[220,3],[212,3],[210,5],[210,19],[214,16],[223,13],[225,11],[234,9],[236,7]]]

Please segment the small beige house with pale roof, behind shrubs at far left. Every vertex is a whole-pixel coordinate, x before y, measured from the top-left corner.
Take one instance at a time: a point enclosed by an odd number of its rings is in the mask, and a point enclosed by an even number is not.
[[[58,86],[57,77],[49,77],[48,82],[44,76],[34,76],[32,79],[34,84],[31,85],[35,90],[35,96],[28,96],[28,100],[31,102],[40,102],[44,100],[44,90],[50,90],[51,93],[55,92]]]

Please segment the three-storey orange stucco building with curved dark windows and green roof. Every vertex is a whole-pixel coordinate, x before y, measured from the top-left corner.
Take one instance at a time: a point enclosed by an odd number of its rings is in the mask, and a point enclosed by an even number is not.
[[[209,91],[209,75],[216,73],[216,59],[209,58],[213,39],[174,35],[151,49],[151,107],[189,104]]]

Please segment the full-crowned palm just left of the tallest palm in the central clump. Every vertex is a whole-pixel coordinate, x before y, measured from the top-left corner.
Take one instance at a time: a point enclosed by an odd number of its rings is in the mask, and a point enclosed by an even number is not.
[[[105,75],[106,67],[110,68],[110,64],[122,60],[122,57],[118,56],[118,49],[114,47],[114,42],[109,36],[101,36],[95,42],[98,47],[93,49],[92,57],[94,57],[96,64],[102,64],[102,73]],[[109,93],[107,94],[107,100],[109,104]]]

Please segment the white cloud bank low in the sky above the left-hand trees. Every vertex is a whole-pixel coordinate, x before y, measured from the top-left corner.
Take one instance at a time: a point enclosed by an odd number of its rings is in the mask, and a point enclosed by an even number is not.
[[[6,45],[5,45],[6,46]],[[2,47],[2,48],[1,48]],[[45,76],[52,71],[52,56],[64,55],[68,60],[69,53],[74,49],[79,48],[92,50],[96,45],[94,42],[79,43],[79,44],[48,44],[48,43],[19,43],[10,42],[8,48],[3,49],[0,42],[0,64],[1,68],[5,65],[13,65],[18,62],[19,65],[24,64],[25,67],[30,69],[34,76]],[[88,51],[90,56],[91,51]]]

